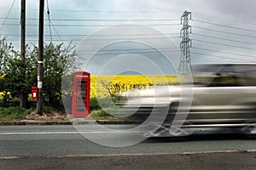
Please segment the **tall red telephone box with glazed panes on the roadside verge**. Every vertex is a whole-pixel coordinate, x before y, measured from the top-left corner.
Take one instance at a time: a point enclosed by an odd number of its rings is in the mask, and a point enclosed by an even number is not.
[[[90,111],[90,73],[76,71],[73,73],[72,115],[85,117]]]

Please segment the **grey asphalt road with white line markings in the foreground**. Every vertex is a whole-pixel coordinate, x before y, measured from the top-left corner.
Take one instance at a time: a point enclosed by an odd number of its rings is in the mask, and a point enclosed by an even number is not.
[[[90,134],[119,145],[111,131],[104,136],[90,127]],[[1,126],[0,169],[256,169],[256,139],[207,135],[108,147],[73,126]]]

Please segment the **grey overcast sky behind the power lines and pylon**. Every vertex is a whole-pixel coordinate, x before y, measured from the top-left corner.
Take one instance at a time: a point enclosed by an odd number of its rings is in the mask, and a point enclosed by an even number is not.
[[[38,20],[35,20],[38,7],[39,1],[26,0],[29,45],[38,44]],[[93,74],[127,73],[129,68],[131,72],[143,74],[172,74],[174,69],[170,67],[177,69],[179,65],[180,18],[187,10],[192,14],[189,20],[192,63],[253,62],[256,60],[255,7],[255,0],[48,0],[45,1],[44,40],[49,42],[50,29],[53,42],[73,41],[83,69]],[[19,18],[20,0],[1,0],[1,35],[7,36],[17,49],[20,49]],[[125,30],[112,28],[115,25],[142,27]]]

